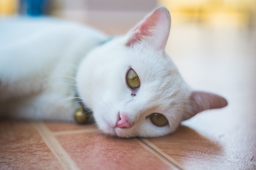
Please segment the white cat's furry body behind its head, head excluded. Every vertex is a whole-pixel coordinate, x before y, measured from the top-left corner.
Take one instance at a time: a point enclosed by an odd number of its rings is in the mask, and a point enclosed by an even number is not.
[[[0,22],[0,113],[74,121],[76,72],[106,35],[52,18]]]

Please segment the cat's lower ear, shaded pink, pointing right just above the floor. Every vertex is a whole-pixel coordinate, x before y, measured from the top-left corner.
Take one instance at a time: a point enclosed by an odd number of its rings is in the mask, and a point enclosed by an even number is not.
[[[193,115],[203,110],[223,108],[227,106],[227,100],[212,93],[194,91],[190,95],[191,113]]]

